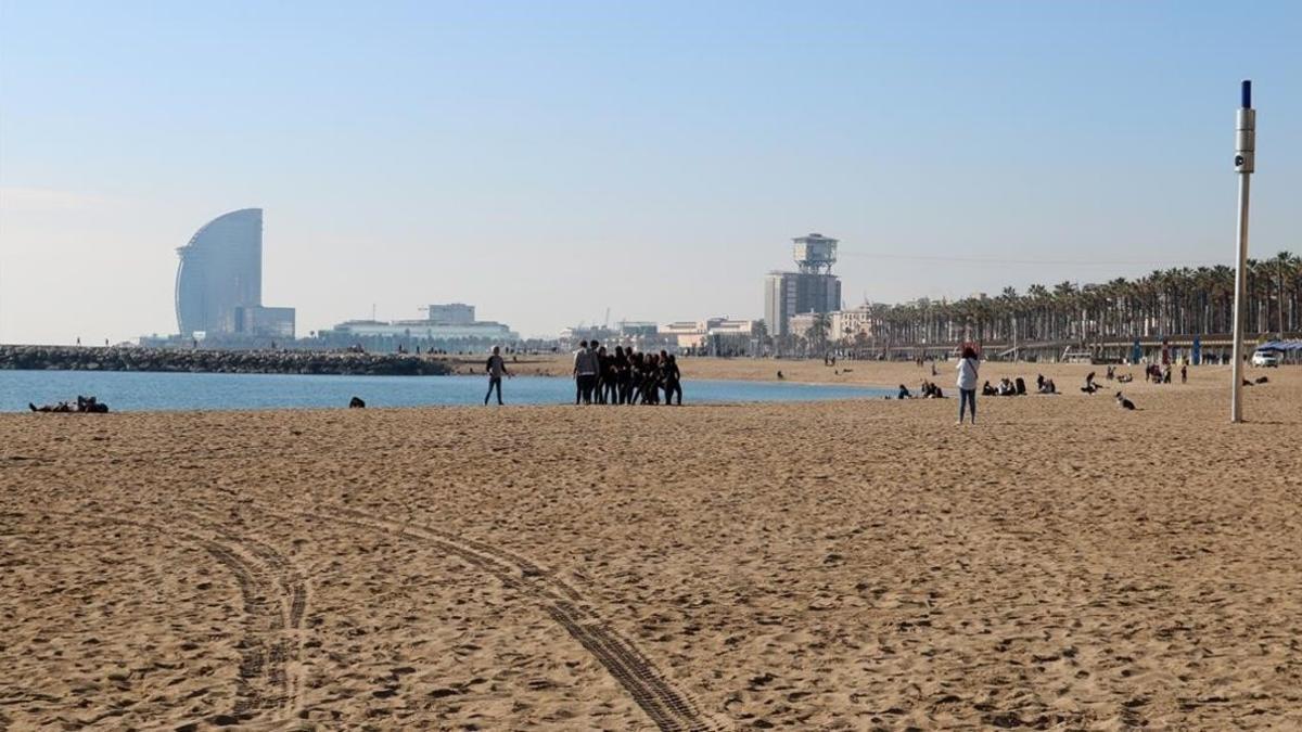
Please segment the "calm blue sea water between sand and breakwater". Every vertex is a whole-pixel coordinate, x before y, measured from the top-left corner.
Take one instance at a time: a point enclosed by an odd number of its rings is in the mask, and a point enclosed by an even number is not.
[[[0,412],[22,412],[29,401],[39,406],[77,395],[94,395],[115,412],[348,406],[353,396],[367,406],[473,405],[483,404],[487,388],[484,376],[0,370]],[[891,393],[866,387],[719,380],[686,380],[682,391],[684,404],[880,399]],[[503,396],[506,404],[573,404],[574,382],[517,376],[503,380]]]

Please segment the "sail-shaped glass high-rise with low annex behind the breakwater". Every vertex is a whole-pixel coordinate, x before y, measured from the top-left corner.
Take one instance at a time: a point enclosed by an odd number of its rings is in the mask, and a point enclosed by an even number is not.
[[[182,336],[293,337],[294,310],[262,306],[262,208],[223,214],[176,251]]]

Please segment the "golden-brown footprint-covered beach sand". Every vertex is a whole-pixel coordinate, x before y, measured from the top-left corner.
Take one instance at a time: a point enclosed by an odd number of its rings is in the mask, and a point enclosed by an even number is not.
[[[924,374],[841,366],[689,359],[685,388]],[[0,728],[1302,727],[1302,370],[1254,370],[1240,426],[1224,369],[1135,413],[1040,370],[1070,392],[976,427],[0,415]]]

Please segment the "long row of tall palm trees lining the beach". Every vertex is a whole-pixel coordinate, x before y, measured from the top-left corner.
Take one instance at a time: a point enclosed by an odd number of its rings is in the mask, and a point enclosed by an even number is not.
[[[816,319],[801,333],[809,350],[832,344],[883,348],[979,343],[1066,343],[1167,336],[1228,335],[1234,309],[1234,270],[1225,266],[1159,270],[1128,280],[1052,288],[1013,288],[956,301],[917,300],[901,305],[865,305],[863,332],[831,332],[831,319]],[[1302,331],[1302,258],[1281,251],[1249,259],[1245,331],[1282,336]]]

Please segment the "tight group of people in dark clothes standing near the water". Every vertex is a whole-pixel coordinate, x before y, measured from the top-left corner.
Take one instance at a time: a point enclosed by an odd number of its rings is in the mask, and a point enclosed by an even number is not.
[[[678,359],[664,350],[617,345],[611,353],[596,340],[582,341],[574,352],[574,404],[682,404]]]

